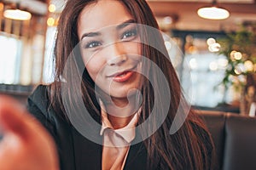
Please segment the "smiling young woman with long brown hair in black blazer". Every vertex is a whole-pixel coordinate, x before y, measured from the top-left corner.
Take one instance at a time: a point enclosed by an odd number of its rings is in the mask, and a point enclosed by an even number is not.
[[[155,29],[144,0],[67,1],[55,41],[55,82],[38,86],[28,100],[28,111],[55,141],[61,169],[212,168],[210,134],[192,111],[186,115]],[[187,117],[170,134],[177,114]],[[49,167],[57,168],[54,149],[50,156]]]

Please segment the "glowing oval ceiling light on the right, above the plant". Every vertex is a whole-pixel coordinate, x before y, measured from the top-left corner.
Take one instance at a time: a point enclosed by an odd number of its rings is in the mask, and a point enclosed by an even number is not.
[[[224,20],[230,16],[230,12],[224,8],[217,6],[216,0],[212,1],[212,6],[203,7],[197,10],[197,14],[204,19]]]

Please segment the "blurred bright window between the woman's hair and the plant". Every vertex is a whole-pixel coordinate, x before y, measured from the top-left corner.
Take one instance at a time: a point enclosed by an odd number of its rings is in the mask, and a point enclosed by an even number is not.
[[[172,31],[172,37],[183,51],[180,80],[190,103],[207,108],[229,103],[234,96],[221,84],[228,61],[224,55],[211,52],[207,45],[208,38],[218,39],[224,33]]]

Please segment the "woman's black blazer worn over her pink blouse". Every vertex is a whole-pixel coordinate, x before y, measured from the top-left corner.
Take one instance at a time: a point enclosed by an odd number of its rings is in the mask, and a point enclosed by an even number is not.
[[[102,145],[84,138],[60,113],[49,108],[46,86],[38,86],[29,96],[27,109],[54,138],[61,170],[102,169]],[[131,145],[124,169],[147,169],[147,150],[143,143]]]

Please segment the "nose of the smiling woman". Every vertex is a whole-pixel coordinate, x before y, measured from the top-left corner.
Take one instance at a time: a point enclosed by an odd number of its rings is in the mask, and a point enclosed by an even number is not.
[[[108,46],[108,65],[122,65],[127,60],[127,55],[122,42],[115,42]]]

